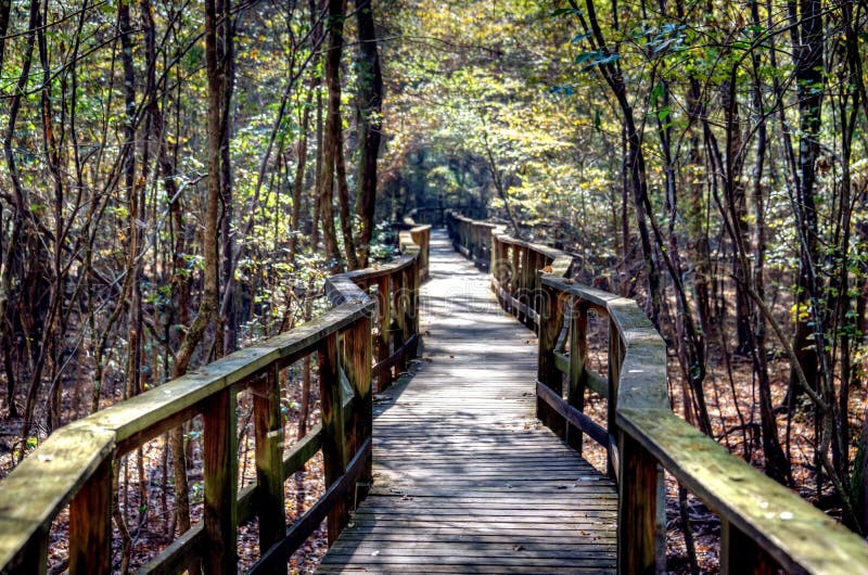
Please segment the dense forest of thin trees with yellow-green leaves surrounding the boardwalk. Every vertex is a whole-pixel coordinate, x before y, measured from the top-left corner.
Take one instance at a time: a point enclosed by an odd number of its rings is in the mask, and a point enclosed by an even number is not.
[[[638,299],[673,409],[865,536],[867,61],[865,0],[3,0],[0,477],[448,208]],[[284,375],[296,437],[317,369]],[[195,520],[197,434],[115,465],[117,571]],[[669,495],[672,568],[715,571]]]

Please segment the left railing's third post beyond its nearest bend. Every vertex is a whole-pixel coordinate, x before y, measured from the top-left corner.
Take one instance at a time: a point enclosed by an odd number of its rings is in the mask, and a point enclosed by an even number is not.
[[[319,349],[319,397],[322,419],[322,468],[328,489],[346,471],[346,435],[341,397],[341,373],[337,361],[337,334],[328,335]],[[329,545],[349,521],[346,500],[335,502],[329,511]]]

